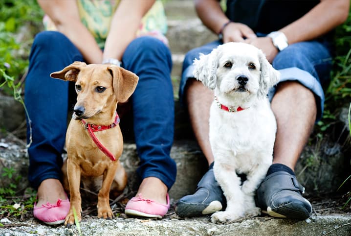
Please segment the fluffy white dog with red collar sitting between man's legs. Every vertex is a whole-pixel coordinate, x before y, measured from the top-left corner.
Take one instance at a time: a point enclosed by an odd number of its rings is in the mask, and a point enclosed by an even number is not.
[[[227,43],[194,61],[195,78],[214,90],[209,138],[214,173],[227,199],[211,221],[260,214],[254,195],[272,164],[276,120],[267,98],[280,78],[263,52],[249,44]],[[241,183],[237,174],[246,174]]]

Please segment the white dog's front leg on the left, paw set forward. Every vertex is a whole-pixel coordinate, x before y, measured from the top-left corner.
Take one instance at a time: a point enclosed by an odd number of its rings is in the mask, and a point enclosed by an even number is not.
[[[223,190],[227,200],[227,208],[224,212],[215,212],[211,216],[213,223],[233,221],[244,216],[244,193],[241,191],[241,179],[235,169],[228,169],[226,165],[217,164],[215,161],[215,177]]]

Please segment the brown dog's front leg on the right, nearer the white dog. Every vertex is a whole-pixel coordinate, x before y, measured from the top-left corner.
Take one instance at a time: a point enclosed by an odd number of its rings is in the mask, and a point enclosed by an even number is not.
[[[112,219],[113,213],[110,208],[110,188],[118,165],[111,165],[104,172],[102,186],[98,194],[97,200],[97,217],[104,219]]]

